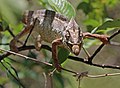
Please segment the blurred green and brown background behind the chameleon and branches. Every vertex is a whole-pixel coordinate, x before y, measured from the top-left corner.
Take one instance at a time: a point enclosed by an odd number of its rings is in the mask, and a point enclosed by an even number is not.
[[[21,22],[25,10],[53,9],[51,2],[59,3],[64,0],[0,0],[0,48],[9,50],[9,42],[18,34],[24,24]],[[75,13],[75,20],[83,32],[92,32],[93,29],[104,25],[106,21],[113,21],[107,26],[97,30],[96,33],[111,35],[120,27],[120,1],[119,0],[68,0]],[[63,15],[66,15],[63,13]],[[71,15],[70,15],[71,16]],[[106,25],[106,24],[105,24]],[[21,39],[24,40],[24,37]],[[33,43],[29,39],[28,45]],[[112,41],[120,43],[120,35]],[[97,39],[85,39],[84,47],[92,54],[100,45]],[[0,55],[4,52],[0,51]],[[50,62],[51,52],[42,49],[27,50],[21,54]],[[71,54],[72,55],[72,54]],[[64,57],[64,56],[63,56]],[[86,57],[83,50],[78,57]],[[106,45],[94,58],[94,63],[120,66],[120,47]],[[89,74],[98,75],[120,72],[117,69],[99,68],[86,65],[78,61],[65,59],[62,66],[77,72],[88,71]],[[0,88],[78,88],[79,82],[73,74],[62,71],[55,72],[52,77],[49,73],[53,70],[46,65],[41,65],[30,60],[11,55],[0,63]],[[47,83],[46,83],[47,82]],[[83,78],[81,88],[119,88],[120,75],[102,78]]]

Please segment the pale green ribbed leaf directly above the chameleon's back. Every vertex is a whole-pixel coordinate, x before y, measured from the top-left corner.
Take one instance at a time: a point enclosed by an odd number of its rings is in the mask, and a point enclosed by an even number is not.
[[[48,0],[48,2],[57,12],[64,14],[68,18],[75,17],[75,10],[67,0]]]

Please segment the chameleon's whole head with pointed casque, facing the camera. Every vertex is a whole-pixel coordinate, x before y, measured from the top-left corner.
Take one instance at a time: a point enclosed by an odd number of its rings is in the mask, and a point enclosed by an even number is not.
[[[69,50],[78,55],[82,47],[83,35],[80,27],[73,18],[69,21],[66,29],[63,32],[63,42]]]

